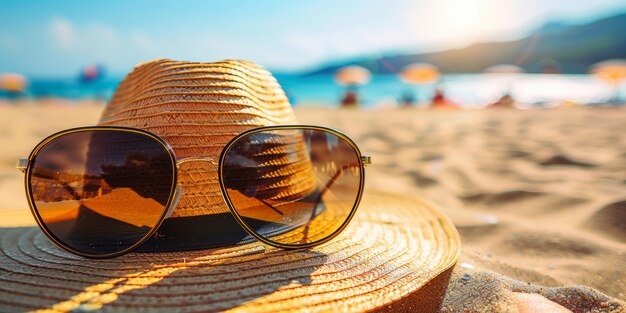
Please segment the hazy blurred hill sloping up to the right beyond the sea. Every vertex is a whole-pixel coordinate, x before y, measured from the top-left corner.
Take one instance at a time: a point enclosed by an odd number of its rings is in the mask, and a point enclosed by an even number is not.
[[[593,63],[613,58],[626,58],[626,13],[585,25],[546,24],[533,35],[515,41],[339,62],[306,75],[333,74],[346,65],[361,65],[374,73],[397,73],[415,62],[434,64],[444,73],[477,73],[491,65],[516,64],[530,73],[577,74],[586,73]]]

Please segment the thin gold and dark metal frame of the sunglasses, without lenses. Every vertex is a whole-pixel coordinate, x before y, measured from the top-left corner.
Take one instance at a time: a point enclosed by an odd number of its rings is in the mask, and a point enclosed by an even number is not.
[[[358,162],[359,162],[359,171],[360,171],[359,189],[358,189],[359,191],[358,191],[356,200],[355,200],[352,208],[350,209],[350,213],[348,214],[348,217],[343,222],[343,224],[337,230],[335,230],[332,234],[330,234],[330,235],[328,235],[328,236],[326,236],[326,237],[324,237],[324,238],[322,238],[320,240],[317,240],[317,241],[304,243],[304,244],[283,244],[283,243],[271,241],[271,240],[261,236],[256,231],[254,231],[252,228],[250,228],[243,221],[243,218],[241,217],[241,215],[235,209],[235,206],[233,205],[232,201],[230,200],[230,197],[228,196],[228,192],[226,191],[226,187],[224,186],[224,179],[223,179],[223,175],[222,175],[224,159],[225,159],[226,154],[228,153],[228,151],[230,151],[231,147],[234,144],[236,144],[239,139],[241,139],[242,137],[244,137],[246,135],[250,135],[250,134],[254,134],[254,133],[259,133],[259,132],[264,132],[264,131],[284,130],[284,129],[288,129],[288,130],[298,130],[298,129],[300,129],[300,130],[318,130],[318,131],[323,131],[323,132],[326,132],[326,133],[333,134],[333,135],[335,135],[335,136],[345,140],[354,149],[354,152],[357,155],[357,159],[358,159]],[[90,253],[86,253],[86,252],[83,252],[83,251],[76,250],[76,249],[66,245],[65,243],[63,243],[62,240],[56,238],[54,236],[54,234],[46,227],[45,223],[43,222],[43,219],[41,218],[38,210],[36,209],[35,200],[33,198],[33,192],[32,192],[32,186],[31,186],[31,171],[32,171],[31,164],[33,164],[33,161],[37,157],[37,153],[43,147],[45,147],[48,143],[50,143],[51,141],[53,141],[53,140],[55,140],[55,139],[57,139],[57,138],[59,138],[61,136],[72,134],[72,133],[84,132],[84,131],[107,131],[107,130],[130,132],[130,133],[138,133],[138,134],[146,135],[149,138],[152,138],[152,139],[156,140],[158,143],[160,143],[163,146],[163,148],[165,149],[165,151],[167,151],[167,154],[170,157],[170,161],[172,162],[172,187],[170,189],[169,198],[168,198],[167,203],[165,205],[165,209],[163,210],[163,214],[161,215],[161,217],[159,218],[159,220],[157,221],[155,226],[152,227],[152,229],[148,233],[146,233],[146,235],[144,235],[144,237],[141,240],[139,240],[137,243],[135,243],[135,244],[133,244],[133,245],[123,249],[123,250],[120,250],[120,251],[107,253],[107,254],[90,254]],[[30,207],[31,213],[33,214],[33,217],[35,218],[35,221],[37,222],[37,225],[44,232],[44,234],[52,242],[54,242],[58,247],[61,247],[64,250],[66,250],[66,251],[68,251],[68,252],[70,252],[72,254],[76,254],[76,255],[79,255],[79,256],[82,256],[82,257],[86,257],[86,258],[91,258],[91,259],[106,259],[106,258],[112,258],[112,257],[124,255],[126,253],[129,253],[129,252],[137,249],[138,247],[143,245],[146,241],[148,241],[157,232],[159,227],[161,227],[161,225],[163,224],[163,221],[165,219],[167,219],[171,215],[173,210],[175,209],[175,207],[176,207],[175,199],[177,199],[180,196],[179,192],[180,192],[181,188],[179,188],[179,184],[178,184],[178,171],[180,169],[180,165],[183,164],[183,163],[192,162],[192,161],[205,161],[205,162],[210,162],[210,163],[215,165],[215,161],[213,161],[211,158],[208,158],[208,157],[189,157],[189,158],[177,159],[176,158],[176,154],[174,153],[174,150],[172,149],[172,147],[165,140],[163,140],[158,135],[153,134],[153,133],[151,133],[149,131],[146,131],[146,130],[143,130],[143,129],[132,128],[132,127],[125,127],[125,126],[85,126],[85,127],[77,127],[77,128],[66,129],[66,130],[54,133],[54,134],[46,137],[39,144],[37,144],[37,146],[35,146],[35,148],[32,150],[32,152],[28,156],[28,159],[20,159],[20,160],[18,160],[18,164],[17,164],[16,168],[18,170],[22,171],[22,173],[24,173],[24,185],[25,185],[25,190],[26,190],[26,198],[28,199],[28,205]],[[219,185],[220,185],[220,191],[222,193],[222,198],[224,199],[224,202],[228,206],[228,209],[230,210],[231,214],[233,215],[233,217],[235,218],[237,223],[248,234],[250,234],[252,237],[256,238],[257,240],[259,240],[262,243],[265,243],[265,244],[267,244],[269,246],[273,246],[273,247],[277,247],[277,248],[294,250],[294,249],[310,248],[310,247],[314,247],[314,246],[318,246],[320,244],[323,244],[323,243],[325,243],[325,242],[327,242],[329,240],[332,240],[336,236],[338,236],[347,227],[347,225],[352,220],[352,217],[356,213],[356,209],[358,208],[359,203],[361,202],[361,198],[363,196],[364,184],[365,184],[365,166],[367,166],[367,164],[370,164],[370,163],[371,163],[370,157],[368,155],[362,155],[361,151],[359,150],[357,145],[354,143],[354,141],[352,139],[350,139],[348,136],[346,136],[345,134],[341,133],[340,131],[338,131],[336,129],[323,127],[323,126],[315,126],[315,125],[274,125],[274,126],[262,126],[262,127],[252,128],[252,129],[246,130],[246,131],[244,131],[242,133],[239,133],[235,137],[233,137],[224,146],[224,148],[222,149],[222,152],[220,154],[219,161],[218,161],[218,164],[217,164],[217,171],[218,171],[218,180],[219,180]]]

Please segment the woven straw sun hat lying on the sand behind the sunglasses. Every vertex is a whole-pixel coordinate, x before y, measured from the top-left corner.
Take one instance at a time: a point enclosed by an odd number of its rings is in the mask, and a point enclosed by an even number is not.
[[[159,60],[124,80],[101,122],[149,129],[184,157],[214,155],[239,131],[295,118],[276,81],[254,64]],[[191,195],[211,199],[214,169],[189,165],[179,179],[195,188]],[[296,185],[290,188],[303,188]],[[210,200],[181,204],[165,230],[171,245],[146,250],[176,250],[181,239],[195,240],[183,249],[210,245],[192,226],[240,229]],[[199,224],[207,221],[214,224]],[[0,311],[432,312],[460,252],[459,235],[440,211],[373,190],[338,237],[307,250],[250,242],[89,260],[57,248],[34,225],[26,209],[0,211]]]

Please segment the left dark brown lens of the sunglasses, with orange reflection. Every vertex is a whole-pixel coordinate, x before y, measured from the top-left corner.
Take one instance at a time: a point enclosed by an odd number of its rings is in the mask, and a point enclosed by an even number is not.
[[[165,145],[147,134],[79,130],[37,152],[28,187],[50,236],[70,250],[107,255],[146,239],[161,220],[174,166]]]

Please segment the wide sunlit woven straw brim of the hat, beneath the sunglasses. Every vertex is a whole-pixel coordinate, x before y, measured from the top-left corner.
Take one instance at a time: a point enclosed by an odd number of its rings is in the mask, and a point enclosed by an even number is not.
[[[0,211],[0,311],[417,312],[437,307],[440,295],[421,292],[443,292],[460,251],[442,213],[375,191],[339,237],[311,250],[251,243],[86,260],[33,224],[26,209]]]

